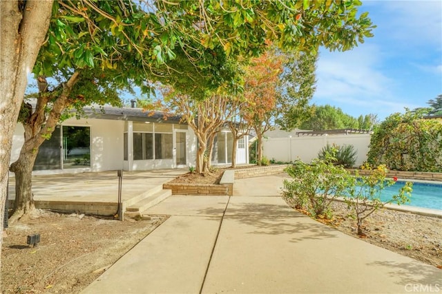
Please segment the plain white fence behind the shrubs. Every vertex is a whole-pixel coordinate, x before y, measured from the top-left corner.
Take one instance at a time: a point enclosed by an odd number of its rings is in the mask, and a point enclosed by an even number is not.
[[[318,152],[327,144],[338,146],[353,145],[356,150],[358,167],[367,160],[370,134],[323,135],[323,136],[293,136],[287,138],[267,138],[262,143],[263,155],[276,161],[290,162],[302,160],[309,163],[318,157]]]

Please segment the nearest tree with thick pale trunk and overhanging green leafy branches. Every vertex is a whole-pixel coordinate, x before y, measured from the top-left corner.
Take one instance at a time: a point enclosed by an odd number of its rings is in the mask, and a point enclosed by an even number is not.
[[[26,91],[27,75],[42,45],[57,45],[62,48],[61,58],[66,63],[83,60],[84,66],[89,67],[114,67],[113,61],[122,59],[122,52],[131,52],[136,64],[128,69],[140,67],[148,75],[151,67],[174,59],[177,48],[193,52],[193,56],[199,56],[200,49],[206,48],[221,48],[232,56],[251,56],[265,50],[265,41],[269,39],[281,48],[317,52],[320,45],[325,45],[330,50],[349,50],[372,36],[374,28],[367,13],[357,13],[361,1],[151,0],[141,3],[145,5],[142,9],[137,9],[135,1],[129,0],[1,1],[1,211],[6,200],[12,136]],[[51,19],[55,29],[48,32]],[[73,34],[68,32],[69,28]],[[82,37],[90,41],[85,42]],[[194,47],[195,44],[198,46]],[[113,46],[115,51],[100,53],[102,45]],[[193,56],[189,55],[189,60],[195,66],[206,66],[204,58]],[[55,52],[53,58],[60,58],[59,53]],[[134,83],[141,83],[145,78],[139,75]],[[3,218],[3,214],[1,216]]]

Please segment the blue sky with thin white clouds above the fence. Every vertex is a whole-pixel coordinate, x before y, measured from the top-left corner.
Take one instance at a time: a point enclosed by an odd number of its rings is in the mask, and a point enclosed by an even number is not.
[[[377,28],[347,52],[320,50],[312,103],[379,120],[442,94],[442,1],[363,1]]]

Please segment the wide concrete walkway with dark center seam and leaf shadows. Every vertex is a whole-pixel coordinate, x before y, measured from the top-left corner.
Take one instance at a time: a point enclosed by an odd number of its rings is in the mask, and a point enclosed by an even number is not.
[[[434,293],[442,288],[441,270],[311,220],[274,197],[280,186],[280,176],[249,178],[236,181],[230,198],[164,200],[148,213],[171,218],[84,293]]]

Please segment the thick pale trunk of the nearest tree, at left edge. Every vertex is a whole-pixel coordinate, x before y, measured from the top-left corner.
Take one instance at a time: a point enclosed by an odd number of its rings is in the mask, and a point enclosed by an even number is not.
[[[26,3],[19,8],[19,3]],[[0,1],[0,232],[8,189],[12,136],[41,44],[48,32],[52,0]],[[3,242],[0,235],[0,248]]]

